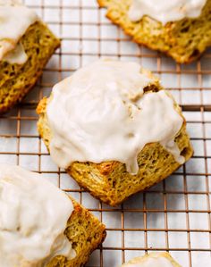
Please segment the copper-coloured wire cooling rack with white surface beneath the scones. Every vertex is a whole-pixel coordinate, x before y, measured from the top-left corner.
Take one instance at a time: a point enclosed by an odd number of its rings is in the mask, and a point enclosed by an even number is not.
[[[133,256],[169,251],[184,267],[211,265],[211,50],[190,65],[133,44],[95,0],[26,0],[62,39],[36,88],[0,117],[0,162],[43,173],[106,225],[107,238],[87,266],[115,267]],[[72,71],[105,56],[137,61],[158,75],[181,104],[195,155],[153,188],[112,208],[79,188],[51,161],[38,137],[35,107]]]

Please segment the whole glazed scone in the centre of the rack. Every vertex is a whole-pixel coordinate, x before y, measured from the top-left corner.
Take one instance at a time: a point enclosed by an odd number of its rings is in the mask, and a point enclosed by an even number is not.
[[[116,205],[192,155],[181,108],[138,63],[100,60],[38,104],[38,132],[81,187]]]

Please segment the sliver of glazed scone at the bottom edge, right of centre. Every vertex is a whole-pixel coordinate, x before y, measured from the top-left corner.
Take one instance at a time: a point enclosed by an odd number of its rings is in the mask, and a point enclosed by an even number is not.
[[[124,263],[122,267],[181,267],[181,265],[176,263],[169,253],[162,252],[134,258],[129,263]]]

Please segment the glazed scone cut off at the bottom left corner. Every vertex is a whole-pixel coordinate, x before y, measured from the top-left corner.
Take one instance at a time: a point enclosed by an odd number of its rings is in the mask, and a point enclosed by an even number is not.
[[[105,226],[42,175],[0,164],[2,267],[80,267]]]

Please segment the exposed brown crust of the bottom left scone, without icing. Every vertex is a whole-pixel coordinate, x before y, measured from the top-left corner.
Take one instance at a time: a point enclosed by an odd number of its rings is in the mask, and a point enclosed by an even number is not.
[[[71,198],[72,199],[72,198]],[[89,255],[104,241],[105,225],[84,207],[72,199],[74,211],[67,223],[65,235],[72,242],[76,257],[68,261],[64,256],[56,256],[47,267],[80,267],[89,260]]]

